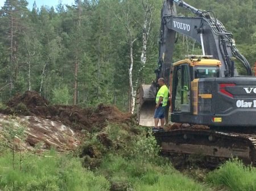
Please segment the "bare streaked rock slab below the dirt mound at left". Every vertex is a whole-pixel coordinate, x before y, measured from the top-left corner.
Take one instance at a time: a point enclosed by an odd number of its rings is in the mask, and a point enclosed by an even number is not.
[[[15,129],[20,125],[26,126],[24,129],[26,141],[20,142],[17,137],[16,142],[24,150],[33,150],[38,143],[41,143],[42,149],[55,147],[58,151],[73,150],[80,145],[78,134],[59,122],[34,116],[11,117],[2,113],[0,113],[0,138],[6,140],[4,136],[7,133],[6,126]]]

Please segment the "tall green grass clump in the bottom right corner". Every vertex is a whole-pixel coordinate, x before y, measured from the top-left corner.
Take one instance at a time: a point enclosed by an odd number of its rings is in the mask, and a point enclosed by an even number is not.
[[[209,172],[205,180],[232,191],[256,191],[256,168],[246,167],[240,160],[233,159]]]

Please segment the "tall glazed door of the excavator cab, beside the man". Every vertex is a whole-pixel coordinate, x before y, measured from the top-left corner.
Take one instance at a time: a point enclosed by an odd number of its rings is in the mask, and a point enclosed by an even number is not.
[[[189,64],[174,67],[172,80],[172,112],[191,112]]]

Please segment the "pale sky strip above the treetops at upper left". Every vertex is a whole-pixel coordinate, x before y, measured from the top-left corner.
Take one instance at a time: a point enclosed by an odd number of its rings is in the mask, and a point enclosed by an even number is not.
[[[54,8],[56,8],[56,6],[59,4],[59,0],[27,0],[28,2],[28,9],[32,9],[33,3],[34,1],[36,2],[36,7],[38,7],[40,9],[40,7],[42,5],[44,6],[53,6]],[[3,4],[5,3],[5,0],[0,0],[0,7],[3,6]],[[72,5],[72,3],[75,3],[75,0],[62,0],[62,4],[63,5]]]

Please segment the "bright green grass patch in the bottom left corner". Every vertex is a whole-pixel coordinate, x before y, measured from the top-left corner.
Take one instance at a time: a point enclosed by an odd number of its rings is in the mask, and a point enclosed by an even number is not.
[[[77,158],[46,153],[47,157],[32,155],[22,165],[13,169],[11,155],[0,158],[0,189],[4,191],[84,191],[109,190],[110,184],[103,176],[81,167]]]

